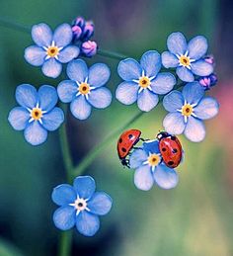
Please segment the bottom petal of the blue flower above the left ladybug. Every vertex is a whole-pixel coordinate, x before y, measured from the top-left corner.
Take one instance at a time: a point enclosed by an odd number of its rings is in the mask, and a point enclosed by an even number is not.
[[[138,96],[137,106],[141,111],[151,111],[159,102],[158,95],[144,89]]]

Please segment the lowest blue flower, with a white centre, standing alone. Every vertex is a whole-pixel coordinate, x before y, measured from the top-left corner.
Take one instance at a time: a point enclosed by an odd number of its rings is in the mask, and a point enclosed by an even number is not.
[[[109,213],[113,203],[109,195],[95,190],[95,180],[90,176],[77,177],[73,186],[54,188],[52,201],[59,206],[53,213],[55,226],[68,230],[76,225],[81,234],[93,236],[100,228],[99,215]]]

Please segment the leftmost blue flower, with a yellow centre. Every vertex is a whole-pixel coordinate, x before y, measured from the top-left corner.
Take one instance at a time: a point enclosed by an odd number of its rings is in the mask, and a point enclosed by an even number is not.
[[[43,85],[37,92],[30,84],[19,85],[16,100],[21,107],[14,108],[8,117],[11,126],[23,130],[26,140],[39,145],[46,140],[47,130],[55,130],[64,121],[61,109],[55,108],[58,97],[56,90]]]

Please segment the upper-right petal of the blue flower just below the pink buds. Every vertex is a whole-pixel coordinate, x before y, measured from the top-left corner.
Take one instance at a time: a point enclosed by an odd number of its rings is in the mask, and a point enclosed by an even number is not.
[[[110,79],[110,68],[104,63],[96,63],[89,69],[88,83],[94,87],[105,85]]]

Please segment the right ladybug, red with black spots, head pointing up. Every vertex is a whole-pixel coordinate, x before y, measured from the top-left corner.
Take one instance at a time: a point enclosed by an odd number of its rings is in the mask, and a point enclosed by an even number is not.
[[[157,134],[159,139],[159,150],[164,163],[169,168],[177,167],[182,160],[182,144],[177,136],[171,135],[166,131]]]

